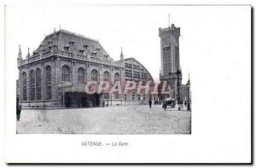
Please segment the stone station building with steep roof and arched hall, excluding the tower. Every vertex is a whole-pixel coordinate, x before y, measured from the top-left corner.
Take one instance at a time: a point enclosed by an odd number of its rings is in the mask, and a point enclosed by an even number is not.
[[[38,49],[22,58],[17,65],[17,100],[22,107],[99,107],[148,101],[136,92],[127,95],[85,93],[88,81],[153,81],[148,70],[134,58],[113,61],[98,41],[66,30],[47,35]]]

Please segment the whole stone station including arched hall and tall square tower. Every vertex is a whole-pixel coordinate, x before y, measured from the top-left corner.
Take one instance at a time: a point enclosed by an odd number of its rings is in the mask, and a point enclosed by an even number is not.
[[[172,97],[177,103],[190,101],[190,80],[182,84],[180,66],[180,28],[174,25],[159,28],[160,36],[160,85],[158,93],[137,92],[88,94],[85,86],[90,81],[111,84],[119,81],[137,84],[154,80],[146,67],[135,58],[125,58],[121,49],[119,61],[113,61],[101,43],[95,39],[60,29],[45,36],[38,49],[22,58],[19,49],[17,65],[19,79],[16,82],[17,102],[22,107],[101,107],[145,104],[150,96],[154,101]],[[167,94],[161,94],[164,82],[170,86]]]

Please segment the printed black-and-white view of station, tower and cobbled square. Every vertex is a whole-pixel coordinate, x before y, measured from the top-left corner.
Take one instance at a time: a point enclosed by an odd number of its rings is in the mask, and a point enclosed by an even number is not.
[[[19,45],[17,133],[190,134],[190,79],[182,84],[180,27],[170,25],[169,14],[158,31],[160,69],[143,66],[140,55],[128,57],[122,48],[114,61],[99,40],[61,26],[37,49],[22,51]]]

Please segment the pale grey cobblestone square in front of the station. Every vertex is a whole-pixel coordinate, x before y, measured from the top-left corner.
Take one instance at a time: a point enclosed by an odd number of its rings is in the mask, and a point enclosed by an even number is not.
[[[17,133],[190,134],[191,112],[160,105],[76,109],[24,109]]]

